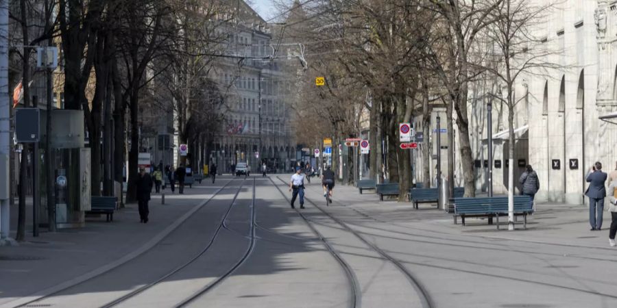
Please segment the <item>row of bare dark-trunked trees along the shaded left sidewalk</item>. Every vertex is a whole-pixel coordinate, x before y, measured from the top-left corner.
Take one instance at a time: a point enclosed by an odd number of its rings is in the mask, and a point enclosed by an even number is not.
[[[223,98],[216,81],[208,74],[213,59],[224,51],[222,44],[226,36],[217,35],[215,29],[230,22],[217,18],[228,9],[225,3],[199,0],[11,2],[13,59],[21,65],[21,70],[12,73],[19,73],[23,80],[23,103],[25,107],[32,105],[29,89],[29,81],[33,79],[32,47],[58,46],[60,68],[54,75],[64,83],[60,90],[64,93],[64,108],[83,110],[90,136],[93,195],[114,194],[114,181],[123,182],[126,167],[126,198],[128,202],[134,201],[143,110],[156,106],[165,113],[175,112],[182,143],[212,144],[223,121],[219,112]],[[50,129],[47,128],[48,134]],[[98,142],[101,135],[102,141]],[[22,152],[21,183],[27,182],[28,152],[27,147]],[[127,154],[128,166],[124,166]],[[51,164],[46,166],[51,168]],[[50,175],[48,188],[53,187],[51,169],[47,174]],[[102,191],[99,183],[103,183]],[[21,185],[17,240],[23,240],[25,234],[25,189]],[[47,190],[47,200],[53,204],[53,189]],[[52,219],[50,211],[50,222]],[[50,228],[53,229],[51,223]]]

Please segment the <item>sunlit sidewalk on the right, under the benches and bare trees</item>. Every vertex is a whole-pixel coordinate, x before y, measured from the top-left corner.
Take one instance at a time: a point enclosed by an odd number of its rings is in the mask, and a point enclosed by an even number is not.
[[[321,202],[323,196],[319,185],[307,187],[306,196]],[[396,200],[379,201],[377,194],[364,191],[359,194],[353,186],[337,185],[335,202],[356,209],[359,213],[385,220],[393,224],[409,227],[418,231],[432,231],[444,235],[464,235],[500,240],[518,240],[566,246],[588,246],[590,248],[612,248],[608,245],[608,232],[611,215],[604,211],[601,231],[590,231],[589,209],[584,205],[566,205],[559,203],[540,203],[535,213],[527,217],[527,229],[523,227],[523,217],[518,217],[515,231],[507,230],[507,217],[500,217],[500,230],[495,224],[487,224],[487,219],[467,218],[466,225],[454,224],[452,214],[439,210],[435,205],[420,204],[420,209],[413,209],[411,203],[398,203]],[[607,207],[605,208],[607,209]],[[362,215],[360,214],[360,215]],[[496,222],[496,220],[494,220]],[[613,248],[616,249],[617,248]]]

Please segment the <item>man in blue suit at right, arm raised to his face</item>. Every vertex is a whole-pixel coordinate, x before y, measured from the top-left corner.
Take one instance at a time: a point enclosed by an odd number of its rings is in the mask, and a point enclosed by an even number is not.
[[[602,229],[606,178],[607,175],[605,172],[602,172],[602,164],[600,162],[596,162],[587,174],[589,187],[585,191],[585,195],[589,197],[589,223],[592,226],[592,231]]]

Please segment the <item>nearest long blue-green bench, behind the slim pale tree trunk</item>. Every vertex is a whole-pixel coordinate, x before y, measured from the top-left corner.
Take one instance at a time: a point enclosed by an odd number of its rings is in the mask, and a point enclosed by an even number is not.
[[[499,216],[508,215],[508,197],[484,197],[484,198],[454,198],[455,214],[454,222],[457,224],[457,216],[461,216],[463,226],[465,217],[495,217],[497,229],[499,229]],[[529,196],[514,196],[514,215],[524,216],[524,228],[527,229],[527,214],[533,213],[533,204]],[[490,223],[490,222],[489,222]]]

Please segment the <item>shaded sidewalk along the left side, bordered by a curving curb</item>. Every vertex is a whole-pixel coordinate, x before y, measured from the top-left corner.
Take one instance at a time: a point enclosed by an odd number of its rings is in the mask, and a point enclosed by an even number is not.
[[[193,188],[185,188],[184,195],[179,195],[178,190],[176,194],[165,190],[165,205],[160,204],[160,194],[152,194],[147,224],[139,222],[137,205],[128,204],[116,211],[113,222],[106,222],[105,216],[86,218],[84,228],[56,233],[41,228],[40,236],[34,238],[32,213],[27,213],[26,241],[19,246],[0,246],[0,305],[138,255],[145,246],[156,244],[165,233],[173,231],[191,209],[227,181],[221,179],[215,185],[208,181],[195,183]],[[12,206],[11,211],[16,216],[17,206]],[[16,229],[16,220],[12,221],[12,229]]]

